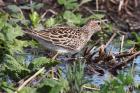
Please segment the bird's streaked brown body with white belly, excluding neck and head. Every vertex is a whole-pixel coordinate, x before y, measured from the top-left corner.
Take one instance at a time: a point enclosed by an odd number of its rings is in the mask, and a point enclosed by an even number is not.
[[[55,27],[42,31],[25,31],[46,48],[60,52],[77,52],[85,45],[83,29],[78,27]],[[84,38],[84,36],[85,38]]]

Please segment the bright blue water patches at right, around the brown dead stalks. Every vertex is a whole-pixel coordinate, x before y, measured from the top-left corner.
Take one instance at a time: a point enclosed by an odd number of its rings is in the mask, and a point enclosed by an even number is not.
[[[128,46],[129,48],[129,46]],[[118,53],[120,51],[120,46],[118,43],[115,44],[110,44],[107,49],[107,51],[112,51],[114,53]],[[127,51],[129,49],[125,49],[125,51]],[[140,56],[136,57],[133,60],[134,63],[134,68],[133,68],[133,78],[134,78],[134,83],[136,85],[140,85]],[[122,69],[122,71],[128,73],[130,70],[132,69],[132,66],[130,66],[130,64],[128,64],[128,67],[125,69]],[[105,71],[105,74],[103,76],[98,76],[97,74],[92,75],[92,76],[87,76],[88,79],[92,80],[92,84],[95,84],[97,86],[100,86],[102,84],[104,84],[104,81],[109,80],[111,78],[111,75],[108,71]]]

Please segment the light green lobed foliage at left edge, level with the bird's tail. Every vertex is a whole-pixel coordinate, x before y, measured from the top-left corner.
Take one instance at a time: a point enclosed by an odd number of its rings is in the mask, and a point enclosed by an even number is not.
[[[22,36],[23,31],[18,25],[12,26],[11,24],[5,23],[4,27],[0,32],[0,39],[3,40],[3,44],[5,44],[5,49],[9,51],[10,54],[14,54],[15,52],[22,52],[23,46],[27,46],[28,43],[26,41],[17,40],[17,36]]]

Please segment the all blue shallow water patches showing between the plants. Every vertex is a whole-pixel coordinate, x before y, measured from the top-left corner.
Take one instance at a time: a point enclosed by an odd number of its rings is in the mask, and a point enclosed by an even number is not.
[[[119,45],[120,44],[118,44],[118,43],[110,44],[106,50],[112,51],[113,53],[118,53],[120,51]],[[128,49],[126,48],[124,50],[127,51]],[[63,70],[62,75],[63,75],[63,77],[65,77],[67,61],[63,60],[63,58],[64,58],[64,56],[59,56],[58,60],[60,60],[62,62],[62,64],[59,64],[59,67]],[[32,59],[34,59],[34,56],[31,54],[28,54],[26,57],[26,62],[29,63],[29,62],[31,62]],[[133,60],[133,62],[134,62],[134,69],[133,69],[134,82],[139,85],[140,84],[140,56],[135,58]],[[132,66],[128,66],[127,68],[122,69],[122,71],[128,73],[128,71],[130,71],[131,67]],[[85,78],[88,80],[91,80],[91,84],[100,86],[100,85],[104,84],[104,82],[106,80],[109,80],[111,78],[111,74],[108,71],[105,71],[105,74],[102,76],[99,76],[98,74],[93,74],[90,76],[86,75]]]

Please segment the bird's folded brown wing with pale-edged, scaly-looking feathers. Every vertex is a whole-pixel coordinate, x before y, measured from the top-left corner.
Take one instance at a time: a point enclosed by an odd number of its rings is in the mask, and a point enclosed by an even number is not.
[[[74,50],[79,46],[76,42],[81,36],[79,32],[79,28],[72,27],[55,27],[42,31],[26,31],[27,34],[33,37],[71,50]]]

